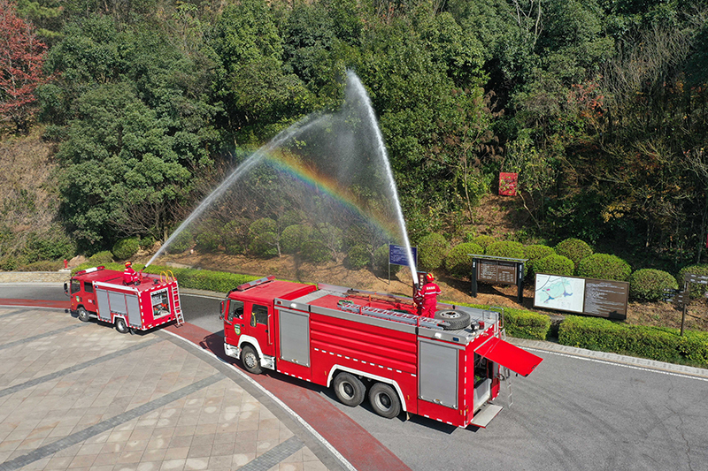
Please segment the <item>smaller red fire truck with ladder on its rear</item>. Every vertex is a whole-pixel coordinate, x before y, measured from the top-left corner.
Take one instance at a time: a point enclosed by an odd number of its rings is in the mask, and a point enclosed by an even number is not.
[[[184,323],[177,280],[170,272],[140,273],[137,281],[123,283],[123,273],[96,267],[76,272],[64,292],[71,297],[71,312],[83,322],[96,318],[115,324],[120,333],[148,330],[177,320]]]

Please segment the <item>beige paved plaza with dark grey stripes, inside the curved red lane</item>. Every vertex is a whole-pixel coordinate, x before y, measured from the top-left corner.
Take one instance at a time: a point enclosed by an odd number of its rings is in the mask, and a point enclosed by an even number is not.
[[[163,330],[0,308],[0,470],[347,467],[240,376]]]

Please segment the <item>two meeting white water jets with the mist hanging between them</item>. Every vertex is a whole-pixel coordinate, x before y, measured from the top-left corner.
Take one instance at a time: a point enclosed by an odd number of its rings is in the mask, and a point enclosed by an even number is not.
[[[190,226],[194,229],[207,209],[221,211],[223,219],[244,213],[252,218],[277,218],[284,208],[299,209],[308,215],[310,224],[327,226],[322,232],[325,237],[337,224],[336,231],[346,231],[355,224],[353,220],[378,231],[390,226],[383,232],[396,243],[403,242],[413,284],[417,285],[388,152],[371,100],[354,72],[347,71],[340,112],[304,118],[259,148],[199,204],[147,265],[181,232]]]

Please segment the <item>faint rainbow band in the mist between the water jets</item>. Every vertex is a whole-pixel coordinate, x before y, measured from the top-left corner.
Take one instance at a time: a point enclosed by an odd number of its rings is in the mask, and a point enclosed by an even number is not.
[[[351,193],[335,179],[317,171],[310,165],[306,165],[301,159],[295,158],[286,152],[268,152],[266,161],[271,163],[278,171],[282,171],[290,177],[302,182],[315,190],[320,190],[339,201],[345,208],[357,213],[366,221],[374,224],[379,230],[384,232],[389,239],[400,242],[402,235],[396,222],[391,221],[390,215],[383,211],[369,209],[366,201]]]

